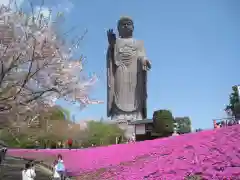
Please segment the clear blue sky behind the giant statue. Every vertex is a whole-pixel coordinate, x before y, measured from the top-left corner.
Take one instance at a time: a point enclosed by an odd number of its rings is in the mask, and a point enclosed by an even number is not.
[[[46,7],[57,4],[65,11],[62,28],[78,26],[68,38],[88,29],[76,55],[87,57],[86,75],[99,76],[93,98],[106,101],[106,30],[116,29],[119,17],[128,15],[135,22],[134,36],[144,40],[152,62],[148,117],[156,109],[170,109],[174,116],[189,116],[193,128],[211,128],[212,119],[225,117],[231,87],[240,83],[239,0],[45,1]],[[76,120],[106,118],[106,104],[80,111],[76,105],[59,103]]]

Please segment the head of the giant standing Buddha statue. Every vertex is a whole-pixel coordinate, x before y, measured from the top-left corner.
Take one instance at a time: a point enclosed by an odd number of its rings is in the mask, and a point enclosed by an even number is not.
[[[119,21],[118,32],[120,37],[122,38],[132,37],[133,29],[134,26],[131,19],[126,18]]]

